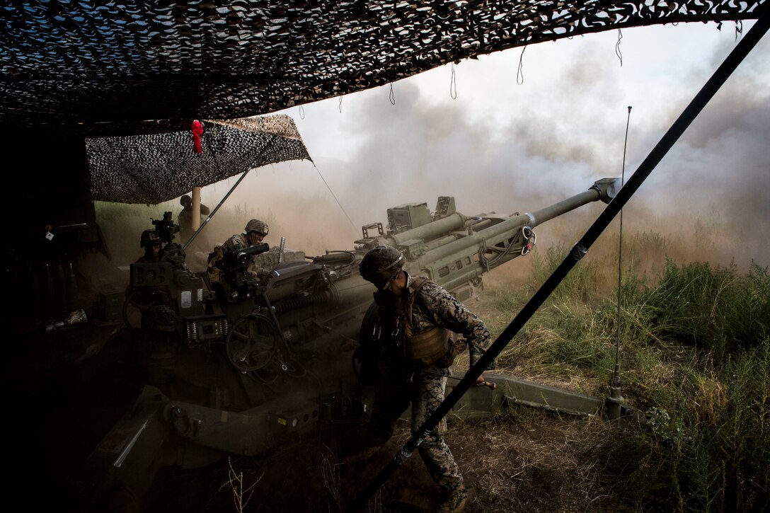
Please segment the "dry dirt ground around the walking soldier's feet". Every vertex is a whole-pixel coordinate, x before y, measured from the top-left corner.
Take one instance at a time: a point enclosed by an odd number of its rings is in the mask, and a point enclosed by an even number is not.
[[[524,413],[450,422],[446,439],[470,488],[465,511],[623,511],[629,469],[620,462],[628,454],[618,441],[636,428],[628,420]],[[406,422],[373,454],[341,457],[345,439],[311,439],[260,460],[169,471],[156,481],[147,511],[346,511],[367,496],[361,511],[434,511],[438,488],[419,454],[392,473],[387,467],[408,439]],[[389,478],[362,495],[378,475]]]

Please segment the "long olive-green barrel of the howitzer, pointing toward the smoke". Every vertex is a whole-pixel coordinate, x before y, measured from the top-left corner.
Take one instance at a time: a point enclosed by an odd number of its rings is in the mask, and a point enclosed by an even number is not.
[[[417,258],[417,269],[408,266],[410,273],[427,274],[431,280],[442,287],[453,290],[489,272],[492,268],[520,256],[521,247],[511,250],[511,243],[517,237],[521,237],[521,242],[526,241],[522,233],[524,226],[534,228],[587,203],[599,199],[608,201],[614,196],[618,186],[618,179],[599,180],[584,193],[532,213],[512,216],[501,223],[427,251]],[[474,258],[476,253],[479,256],[477,259]]]

